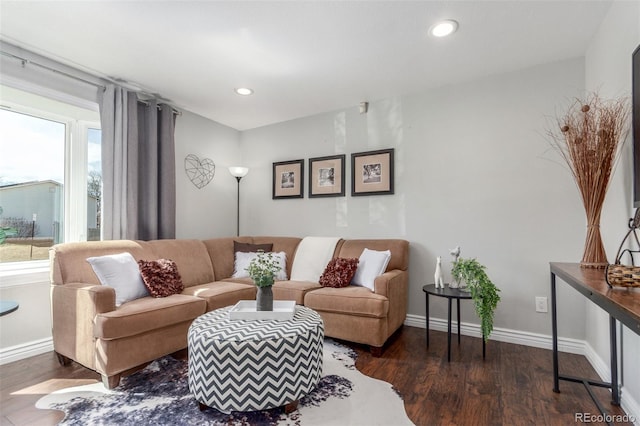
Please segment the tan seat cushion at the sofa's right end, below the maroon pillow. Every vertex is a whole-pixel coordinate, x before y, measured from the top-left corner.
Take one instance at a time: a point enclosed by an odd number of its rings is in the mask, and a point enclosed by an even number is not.
[[[385,318],[389,314],[389,299],[372,293],[365,287],[322,287],[304,296],[304,305],[319,312]]]

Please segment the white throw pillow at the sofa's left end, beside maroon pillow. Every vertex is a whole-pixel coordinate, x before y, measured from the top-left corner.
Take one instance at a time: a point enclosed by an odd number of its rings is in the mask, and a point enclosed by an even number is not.
[[[87,262],[102,285],[116,290],[116,306],[149,295],[142,281],[138,262],[131,253],[90,257]]]

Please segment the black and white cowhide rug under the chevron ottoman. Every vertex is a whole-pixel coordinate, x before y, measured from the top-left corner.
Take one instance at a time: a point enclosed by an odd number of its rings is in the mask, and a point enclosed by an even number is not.
[[[360,373],[356,356],[325,339],[322,379],[288,415],[283,408],[200,411],[189,393],[187,360],[171,357],[123,378],[116,389],[102,383],[66,388],[40,398],[36,407],[64,411],[62,425],[412,425],[397,392]]]

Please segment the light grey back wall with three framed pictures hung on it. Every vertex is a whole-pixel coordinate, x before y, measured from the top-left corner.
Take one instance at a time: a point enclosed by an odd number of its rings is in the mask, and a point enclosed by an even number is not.
[[[448,249],[460,245],[502,289],[496,327],[548,336],[550,317],[535,312],[534,297],[549,295],[549,261],[581,259],[585,219],[544,132],[547,116],[583,87],[583,60],[573,59],[371,102],[366,115],[354,106],[245,131],[248,233],[405,238],[409,313],[422,317],[436,256],[449,269]],[[395,195],[309,199],[305,182],[304,199],[271,199],[274,161],[391,147]],[[566,288],[560,297],[562,335],[584,339],[584,299]],[[432,315],[444,318],[444,303]],[[471,304],[463,321],[478,322]]]

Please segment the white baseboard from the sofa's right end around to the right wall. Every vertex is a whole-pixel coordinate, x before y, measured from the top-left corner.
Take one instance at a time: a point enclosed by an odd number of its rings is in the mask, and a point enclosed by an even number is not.
[[[426,317],[421,315],[407,315],[404,321],[405,325],[410,327],[426,328]],[[452,326],[457,327],[455,321]],[[447,331],[447,320],[441,318],[429,318],[429,329],[436,331]],[[460,334],[463,336],[482,337],[480,325],[462,322],[460,324]],[[529,333],[526,331],[511,330],[508,328],[494,328],[491,333],[491,340],[505,343],[514,343],[516,345],[531,346],[535,348],[549,349],[553,346],[553,340],[550,335]],[[584,355],[593,369],[600,376],[600,380],[611,380],[611,370],[609,365],[598,356],[584,340],[558,338],[558,351],[568,352],[572,354]],[[625,388],[620,389],[620,406],[636,426],[640,426],[640,405],[638,401],[630,393],[625,392]],[[595,414],[595,413],[594,413]]]

